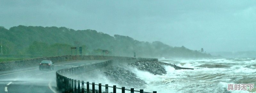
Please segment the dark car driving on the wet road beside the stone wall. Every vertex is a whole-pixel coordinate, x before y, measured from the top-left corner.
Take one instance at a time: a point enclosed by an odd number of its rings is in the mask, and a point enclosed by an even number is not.
[[[50,60],[43,60],[39,64],[39,70],[43,70],[43,69],[53,70],[54,69],[54,64]]]

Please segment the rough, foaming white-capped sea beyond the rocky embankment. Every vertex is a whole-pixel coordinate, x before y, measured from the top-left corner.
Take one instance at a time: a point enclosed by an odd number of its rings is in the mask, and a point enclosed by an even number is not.
[[[161,60],[160,60],[161,61]],[[167,74],[152,75],[136,71],[148,83],[147,91],[158,93],[250,93],[255,92],[255,58],[231,59],[165,59],[161,62],[194,70],[175,70],[164,66]],[[254,89],[227,90],[228,84],[254,84]]]

